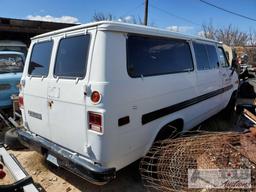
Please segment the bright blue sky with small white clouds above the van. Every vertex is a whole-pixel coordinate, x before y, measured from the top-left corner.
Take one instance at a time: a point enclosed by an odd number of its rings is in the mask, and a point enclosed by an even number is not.
[[[217,6],[256,19],[256,0],[206,0]],[[0,0],[0,17],[57,19],[87,23],[96,12],[143,19],[144,0]],[[48,16],[48,17],[46,17]],[[67,16],[67,17],[63,17]],[[55,20],[56,21],[56,20]],[[232,24],[241,31],[256,31],[256,21],[240,18],[206,5],[200,0],[149,0],[149,23],[160,28],[178,28],[196,35],[203,23],[222,27]]]

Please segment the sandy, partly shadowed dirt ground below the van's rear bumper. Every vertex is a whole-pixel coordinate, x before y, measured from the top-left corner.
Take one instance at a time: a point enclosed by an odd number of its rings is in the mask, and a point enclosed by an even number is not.
[[[93,185],[78,176],[60,168],[49,166],[43,157],[35,151],[9,151],[13,153],[25,170],[47,192],[142,192],[138,168],[126,167],[117,173],[117,179],[104,186]]]

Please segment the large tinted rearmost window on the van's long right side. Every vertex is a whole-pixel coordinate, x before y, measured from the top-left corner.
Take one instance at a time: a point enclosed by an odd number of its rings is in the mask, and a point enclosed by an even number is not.
[[[189,44],[184,40],[129,35],[127,69],[131,77],[192,71]]]

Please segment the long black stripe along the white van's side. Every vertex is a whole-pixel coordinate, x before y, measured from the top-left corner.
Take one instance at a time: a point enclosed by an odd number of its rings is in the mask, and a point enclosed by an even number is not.
[[[141,118],[141,123],[142,123],[142,125],[145,125],[145,124],[147,124],[151,121],[154,121],[156,119],[159,119],[159,118],[164,117],[166,115],[169,115],[171,113],[180,111],[180,110],[182,110],[184,108],[187,108],[191,105],[195,105],[199,102],[205,101],[205,100],[207,100],[211,97],[215,97],[215,96],[217,96],[219,94],[222,94],[222,93],[224,93],[224,92],[226,92],[226,91],[228,91],[232,88],[233,88],[233,85],[229,85],[227,87],[224,87],[224,88],[218,89],[216,91],[206,93],[204,95],[200,95],[198,97],[195,97],[195,98],[192,98],[192,99],[189,99],[189,100],[171,105],[169,107],[165,107],[165,108],[162,108],[162,109],[158,109],[156,111],[152,111],[150,113],[143,114],[142,118]]]

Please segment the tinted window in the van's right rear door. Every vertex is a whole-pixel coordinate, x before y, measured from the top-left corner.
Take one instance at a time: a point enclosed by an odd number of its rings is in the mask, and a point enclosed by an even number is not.
[[[90,35],[61,39],[56,56],[54,76],[83,78],[87,69]]]

